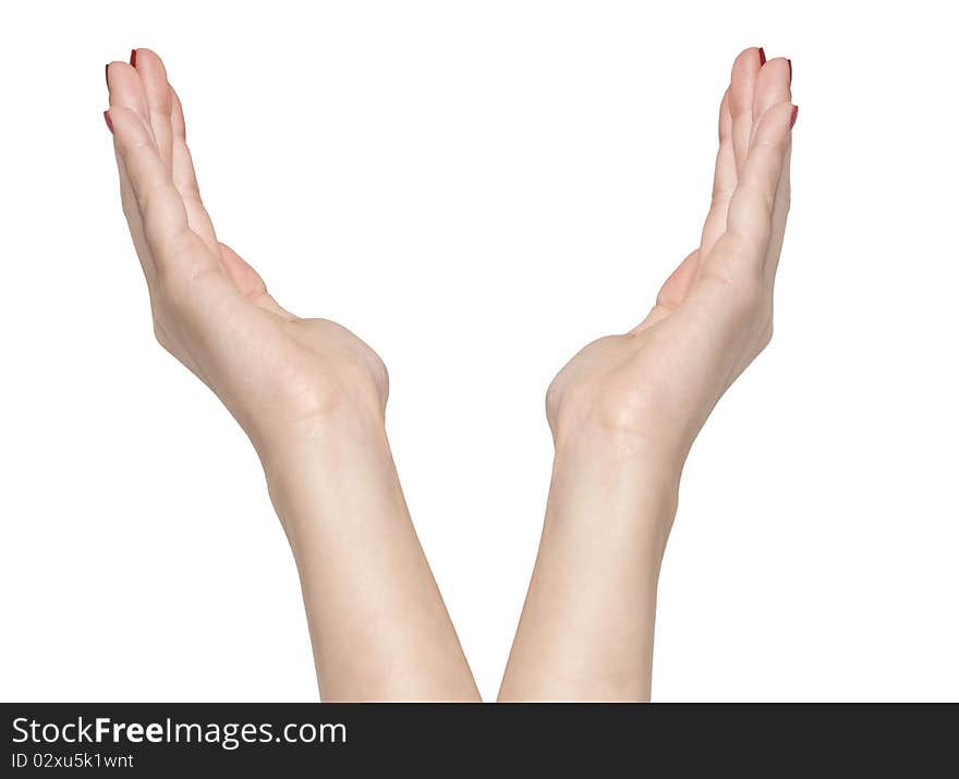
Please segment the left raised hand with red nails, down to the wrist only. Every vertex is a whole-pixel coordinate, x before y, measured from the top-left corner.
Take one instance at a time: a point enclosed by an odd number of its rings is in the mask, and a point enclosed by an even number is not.
[[[331,412],[381,418],[383,362],[339,325],[282,308],[217,240],[163,63],[149,49],[131,62],[107,66],[105,115],[157,340],[217,393],[258,450],[308,435]]]

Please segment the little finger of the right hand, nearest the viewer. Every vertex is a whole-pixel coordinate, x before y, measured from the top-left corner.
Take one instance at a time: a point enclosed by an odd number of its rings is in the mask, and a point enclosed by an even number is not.
[[[763,269],[773,230],[776,193],[796,111],[792,104],[780,102],[761,118],[729,203],[726,234],[707,258],[709,264],[736,263],[745,264],[757,271]]]

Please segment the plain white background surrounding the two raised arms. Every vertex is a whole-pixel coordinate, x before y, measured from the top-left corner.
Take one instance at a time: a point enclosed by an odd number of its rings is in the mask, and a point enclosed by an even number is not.
[[[167,60],[219,234],[389,366],[423,546],[495,695],[543,394],[699,239],[737,52],[789,56],[776,337],[687,466],[657,699],[959,698],[957,83],[945,3],[4,11],[0,696],[315,699],[252,448],[153,341],[104,64]]]

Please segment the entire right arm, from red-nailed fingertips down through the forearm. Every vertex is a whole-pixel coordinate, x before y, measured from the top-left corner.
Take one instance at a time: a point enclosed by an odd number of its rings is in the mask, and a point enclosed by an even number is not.
[[[788,60],[736,60],[700,246],[648,316],[603,338],[547,394],[556,439],[536,568],[500,690],[507,701],[650,697],[656,588],[687,452],[768,343],[789,210]]]

